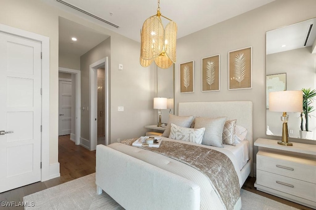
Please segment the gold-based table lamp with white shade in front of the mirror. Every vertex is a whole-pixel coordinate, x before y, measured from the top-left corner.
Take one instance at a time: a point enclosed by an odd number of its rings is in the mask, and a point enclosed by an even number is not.
[[[269,110],[283,112],[281,116],[281,121],[283,122],[282,141],[278,141],[277,143],[284,146],[292,146],[293,144],[288,142],[288,115],[286,112],[303,111],[303,92],[301,90],[270,92]]]

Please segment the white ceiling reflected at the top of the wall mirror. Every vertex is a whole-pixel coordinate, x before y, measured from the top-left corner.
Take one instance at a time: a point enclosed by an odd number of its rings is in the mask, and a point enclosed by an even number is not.
[[[310,31],[310,26],[312,30]],[[307,39],[308,32],[310,34]],[[305,41],[307,39],[306,45]],[[267,32],[267,55],[312,46],[316,39],[316,18]]]

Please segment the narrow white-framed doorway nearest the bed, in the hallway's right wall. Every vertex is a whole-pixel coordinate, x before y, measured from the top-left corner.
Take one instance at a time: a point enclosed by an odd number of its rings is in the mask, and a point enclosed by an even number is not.
[[[104,75],[100,75],[100,80],[103,79],[103,102],[104,113],[102,117],[98,111],[98,69],[104,68]],[[101,72],[101,71],[100,71]],[[101,73],[100,73],[101,74]],[[101,104],[101,103],[100,103]],[[109,144],[109,68],[108,57],[103,58],[90,65],[90,150],[95,150],[98,144],[98,116],[104,118],[104,141],[100,138],[99,142],[105,145]],[[101,121],[101,120],[100,120]],[[99,130],[100,130],[99,129]]]

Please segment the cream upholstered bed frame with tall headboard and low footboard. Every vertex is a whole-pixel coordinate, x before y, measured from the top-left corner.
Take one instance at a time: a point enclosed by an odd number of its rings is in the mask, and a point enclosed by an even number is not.
[[[248,130],[250,150],[250,160],[241,170],[242,183],[252,176],[252,102],[179,103],[178,112],[179,116],[237,119],[237,125]],[[104,190],[128,210],[200,209],[200,187],[196,183],[104,145],[96,150],[96,185],[98,194]]]

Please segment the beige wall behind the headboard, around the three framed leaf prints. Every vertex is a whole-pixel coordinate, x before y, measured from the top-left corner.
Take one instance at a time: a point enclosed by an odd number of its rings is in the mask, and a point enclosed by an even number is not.
[[[253,138],[266,136],[265,35],[267,31],[316,16],[315,0],[276,0],[177,40],[175,108],[179,102],[252,101]],[[228,90],[228,52],[252,46],[253,88]],[[220,54],[220,91],[201,92],[201,58]],[[179,93],[179,64],[195,61],[195,93]],[[294,140],[293,140],[294,141]],[[256,153],[255,148],[255,153]]]

